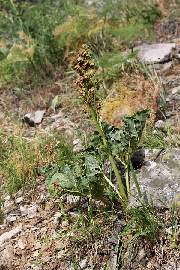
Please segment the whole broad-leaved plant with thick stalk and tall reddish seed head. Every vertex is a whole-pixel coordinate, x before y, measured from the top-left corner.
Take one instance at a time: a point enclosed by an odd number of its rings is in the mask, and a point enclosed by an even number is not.
[[[128,166],[140,142],[150,111],[146,109],[126,116],[122,119],[125,123],[122,129],[101,123],[101,104],[97,98],[99,83],[98,79],[93,80],[95,61],[91,59],[91,52],[85,44],[77,55],[78,64],[75,65],[75,69],[80,78],[75,83],[79,86],[78,92],[84,103],[82,111],[96,125],[98,131],[90,135],[87,148],[79,155],[79,163],[60,168],[57,164],[51,165],[48,162],[39,172],[46,176],[46,185],[52,197],[57,195],[60,188],[73,195],[101,199],[106,204],[112,205],[103,198],[104,195],[107,196],[106,180],[113,192],[118,193],[118,196],[128,203],[130,193]],[[125,166],[126,187],[123,186],[114,156]],[[107,157],[113,167],[119,189],[103,173],[103,164]],[[114,208],[119,209],[115,205]]]

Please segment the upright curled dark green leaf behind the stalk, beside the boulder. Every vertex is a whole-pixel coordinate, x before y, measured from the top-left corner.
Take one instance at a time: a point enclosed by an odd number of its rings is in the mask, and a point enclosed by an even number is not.
[[[122,121],[125,125],[121,130],[108,124],[104,127],[104,134],[112,153],[116,154],[124,165],[129,164],[140,142],[149,114],[150,111],[146,109],[124,117]],[[89,143],[103,151],[104,143],[99,133],[95,132]]]

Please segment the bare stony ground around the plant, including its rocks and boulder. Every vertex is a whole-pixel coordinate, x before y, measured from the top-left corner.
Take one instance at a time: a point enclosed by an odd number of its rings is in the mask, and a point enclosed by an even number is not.
[[[179,22],[173,22],[172,20],[163,22],[157,28],[157,44],[140,44],[140,47],[137,46],[134,48],[140,49],[139,55],[141,58],[144,58],[147,63],[151,60],[155,62],[156,72],[167,92],[166,102],[168,110],[165,112],[165,115],[169,123],[175,123],[173,129],[176,131],[176,134],[180,131],[179,25]],[[169,91],[171,89],[173,90]],[[54,95],[66,97],[66,92],[65,88],[62,89],[58,85],[49,85],[49,90],[46,90],[45,94],[44,89],[42,89],[42,91],[38,92],[37,96],[34,97],[37,104],[35,109],[31,108],[31,110],[29,110],[28,106],[24,107],[22,110],[22,118],[24,122],[26,122],[26,131],[31,132],[32,135],[35,134],[35,126],[44,132],[44,134],[48,134],[50,130],[55,130],[59,133],[64,132],[75,138],[73,141],[74,149],[78,149],[81,146],[81,142],[79,139],[76,140],[78,136],[74,123],[76,123],[76,126],[78,125],[77,119],[79,108],[75,110],[75,113],[72,116],[71,109],[67,108],[67,110],[61,110],[61,107],[63,108],[70,104],[70,101],[67,101],[65,98],[64,100],[62,99],[59,108],[56,108],[56,113],[54,113],[52,108],[47,108],[44,103],[41,103],[42,99],[48,100],[51,99],[51,97],[54,97]],[[43,94],[46,97],[44,97]],[[19,107],[24,104],[24,100],[17,100],[17,96],[12,95],[10,91],[4,91],[4,94],[2,95],[6,95],[7,97],[7,101],[4,101],[1,97],[2,105],[0,107],[1,119],[2,121],[5,121],[6,104],[4,103],[9,102],[8,106],[10,106],[11,113],[13,113],[19,110]],[[43,98],[41,96],[43,96]],[[163,110],[161,104],[158,106]],[[71,116],[72,121],[68,116]],[[166,125],[165,119],[163,120],[164,122],[157,122],[160,120],[162,121],[162,115],[157,114],[155,127],[164,130],[164,126]],[[169,138],[165,138],[165,140],[169,140]],[[180,193],[180,140],[178,135],[174,137],[174,141],[176,149],[172,150],[172,155],[169,155],[170,152],[167,152],[166,157],[164,158],[161,151],[142,150],[144,152],[136,154],[137,156],[135,160],[133,160],[134,163],[138,164],[136,173],[137,178],[140,180],[142,190],[150,193],[154,192],[153,194],[163,201],[165,198],[165,203],[169,203],[172,196],[173,199],[178,199],[178,194]],[[155,152],[156,155],[150,158]],[[148,158],[150,159],[147,160]],[[138,167],[142,163],[143,166]],[[110,172],[110,164],[108,162],[105,164],[105,170],[108,176]],[[120,166],[119,170],[121,170]],[[123,176],[123,170],[121,170],[121,174]],[[130,179],[132,190],[136,192],[132,176],[130,176]],[[51,269],[74,269],[72,266],[72,259],[70,259],[72,256],[71,254],[68,254],[70,251],[75,250],[76,247],[79,248],[75,239],[77,235],[74,234],[74,240],[73,238],[66,237],[68,230],[60,213],[58,201],[55,201],[52,204],[52,199],[47,192],[44,181],[44,177],[39,176],[37,180],[38,184],[36,184],[33,189],[26,186],[23,193],[19,190],[13,198],[9,195],[5,196],[3,203],[5,218],[3,223],[0,224],[0,269],[45,269],[45,266],[42,266],[42,264]],[[63,204],[65,211],[72,220],[75,220],[79,216],[79,213],[76,205],[74,205],[74,208],[72,207],[72,202],[72,196],[64,195]],[[78,203],[82,211],[83,209],[84,211],[87,209],[87,202],[85,199],[78,198]],[[94,207],[97,210],[104,206],[102,203],[101,205],[95,202],[92,203],[94,203]],[[158,209],[157,211],[163,211],[159,202],[157,202],[155,206]],[[170,226],[170,221],[167,218],[166,227],[169,228]],[[105,226],[105,229],[106,228],[107,227]],[[61,233],[58,233],[58,230],[61,230]],[[61,237],[59,237],[59,235]],[[163,237],[168,238],[168,231]],[[45,239],[49,240],[44,241]],[[179,246],[169,250],[165,255],[162,249],[161,256],[159,255],[159,251],[153,250],[152,253],[154,255],[149,255],[149,257],[147,252],[145,252],[148,248],[148,246],[147,248],[140,247],[137,252],[138,260],[136,263],[130,264],[131,266],[129,266],[129,269],[180,269]],[[101,252],[101,256],[98,255],[100,259],[98,264],[95,263],[95,267],[97,268],[94,269],[104,269],[106,260],[108,263],[110,262],[110,250],[111,246],[108,244],[106,251]],[[99,251],[98,253],[100,254]],[[73,253],[73,256],[75,256],[75,254],[76,252]],[[93,253],[92,250],[88,251],[83,243],[80,255],[77,253],[75,256],[83,270],[90,270],[90,256],[92,261],[96,262],[96,252]],[[148,261],[148,263],[146,263],[147,266],[145,268],[138,268],[140,263],[142,265],[141,267],[144,267],[145,261]],[[67,262],[71,266],[68,265]],[[36,263],[39,265],[36,265]],[[111,270],[115,269],[111,268]]]

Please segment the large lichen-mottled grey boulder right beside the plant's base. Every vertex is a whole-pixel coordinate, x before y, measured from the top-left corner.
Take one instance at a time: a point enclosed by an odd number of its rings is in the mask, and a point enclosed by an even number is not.
[[[151,205],[150,194],[160,199],[167,206],[180,194],[180,149],[168,149],[165,152],[158,149],[142,150],[136,152],[132,158],[136,177],[141,189],[142,196]],[[134,183],[131,172],[130,193],[140,197]],[[158,199],[152,197],[154,207],[161,208],[163,205]],[[133,196],[130,202],[136,202]]]

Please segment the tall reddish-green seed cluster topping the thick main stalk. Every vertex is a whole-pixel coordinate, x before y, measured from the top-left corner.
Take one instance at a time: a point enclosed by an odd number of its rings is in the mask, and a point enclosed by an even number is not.
[[[92,82],[91,78],[95,75],[95,70],[92,67],[95,65],[95,60],[91,59],[91,51],[86,44],[82,45],[82,49],[77,53],[78,64],[74,68],[78,71],[80,78],[75,81],[79,86],[79,94],[82,102],[85,104],[95,104],[98,98],[95,97],[95,91],[99,89],[98,79]],[[99,102],[97,103],[99,104]],[[96,105],[97,105],[96,104]],[[95,105],[96,115],[100,115],[101,105]],[[87,113],[87,108],[82,107],[82,112]]]

